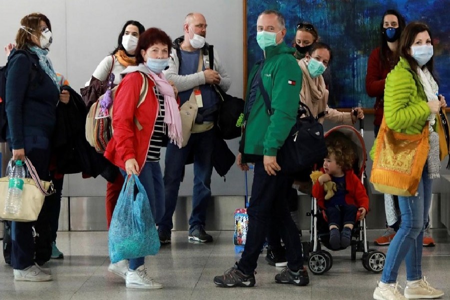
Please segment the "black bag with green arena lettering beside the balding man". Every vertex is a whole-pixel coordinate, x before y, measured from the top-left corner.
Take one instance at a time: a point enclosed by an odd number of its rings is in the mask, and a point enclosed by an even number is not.
[[[214,88],[221,99],[216,122],[219,137],[223,139],[239,137],[242,133],[245,102],[242,98],[225,93],[218,85],[214,85]]]

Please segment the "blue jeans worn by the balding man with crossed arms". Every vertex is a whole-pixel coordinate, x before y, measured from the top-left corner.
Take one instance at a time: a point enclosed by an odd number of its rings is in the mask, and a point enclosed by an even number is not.
[[[176,207],[182,170],[188,155],[193,153],[192,213],[189,218],[189,233],[205,225],[206,208],[211,197],[212,150],[214,129],[192,133],[186,146],[178,148],[169,143],[165,151],[164,187],[165,213],[158,223],[158,229],[173,228],[172,216]]]

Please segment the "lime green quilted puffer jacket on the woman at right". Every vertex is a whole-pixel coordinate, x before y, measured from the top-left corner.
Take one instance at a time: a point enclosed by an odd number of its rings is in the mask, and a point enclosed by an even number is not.
[[[417,73],[400,57],[394,69],[387,74],[384,85],[384,119],[387,126],[397,132],[422,132],[430,114],[423,86]],[[375,140],[376,142],[376,140]],[[373,159],[375,143],[370,150]]]

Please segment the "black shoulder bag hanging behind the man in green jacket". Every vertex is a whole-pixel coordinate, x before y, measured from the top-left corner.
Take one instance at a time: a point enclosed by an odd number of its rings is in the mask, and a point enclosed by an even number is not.
[[[304,172],[309,174],[315,164],[323,163],[327,153],[322,124],[312,116],[308,106],[302,102],[299,105],[307,110],[307,115],[301,112],[297,115],[276,158],[281,172],[294,177]]]

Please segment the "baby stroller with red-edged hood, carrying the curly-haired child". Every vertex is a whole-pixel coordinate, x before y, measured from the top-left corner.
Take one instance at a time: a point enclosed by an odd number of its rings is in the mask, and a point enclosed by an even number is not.
[[[345,135],[349,138],[355,147],[355,152],[357,153],[357,159],[354,162],[353,169],[354,173],[361,178],[363,182],[366,151],[364,146],[364,140],[362,138],[363,134],[363,123],[360,122],[360,132],[358,132],[354,127],[341,125],[330,129],[325,133],[325,140],[330,138],[339,138]],[[324,219],[321,210],[317,205],[317,200],[311,197],[311,212],[306,215],[311,216],[311,229],[310,229],[310,241],[303,242],[303,251],[309,253],[308,258],[308,268],[316,275],[321,275],[328,271],[333,265],[333,258],[330,252],[321,249],[321,243],[323,246],[329,248],[329,229],[328,223]],[[359,213],[358,213],[359,216]],[[366,232],[365,232],[365,218],[356,221],[352,231],[351,231],[351,260],[356,260],[356,252],[362,252],[362,265],[368,271],[375,273],[381,272],[384,268],[384,262],[386,255],[383,252],[368,249]]]

